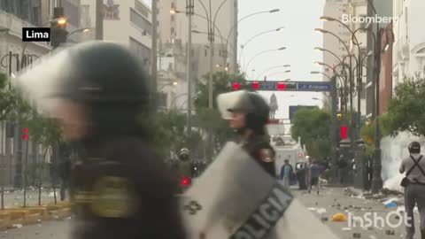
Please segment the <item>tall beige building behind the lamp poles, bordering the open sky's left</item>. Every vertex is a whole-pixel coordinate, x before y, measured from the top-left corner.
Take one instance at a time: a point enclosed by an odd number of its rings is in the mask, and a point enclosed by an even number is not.
[[[233,72],[236,70],[237,58],[237,0],[211,2],[211,13],[215,19],[213,71],[227,69]],[[205,9],[203,5],[206,6]],[[174,12],[172,13],[170,10],[174,10]],[[189,20],[185,11],[185,1],[164,0],[158,3],[159,45],[174,42],[176,39],[181,40],[183,45],[187,44]],[[192,68],[197,69],[196,77],[201,79],[205,73],[210,71],[210,44],[207,36],[207,16],[208,18],[210,16],[208,0],[195,1],[194,12],[195,15],[192,17],[192,30],[194,31],[192,32],[194,56]],[[214,18],[215,16],[216,18]]]

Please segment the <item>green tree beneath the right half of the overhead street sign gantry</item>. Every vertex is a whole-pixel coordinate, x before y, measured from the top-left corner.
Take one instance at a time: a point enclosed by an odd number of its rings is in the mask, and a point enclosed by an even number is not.
[[[325,158],[330,153],[330,113],[318,108],[302,108],[295,112],[290,128],[293,139],[301,143],[312,158]]]

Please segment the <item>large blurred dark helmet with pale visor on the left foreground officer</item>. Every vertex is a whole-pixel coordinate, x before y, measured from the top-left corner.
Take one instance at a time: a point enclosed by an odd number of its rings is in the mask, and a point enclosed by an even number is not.
[[[19,84],[46,112],[58,99],[81,105],[89,128],[89,138],[81,140],[96,142],[143,133],[138,117],[147,111],[150,94],[142,66],[124,46],[85,42],[43,59]]]

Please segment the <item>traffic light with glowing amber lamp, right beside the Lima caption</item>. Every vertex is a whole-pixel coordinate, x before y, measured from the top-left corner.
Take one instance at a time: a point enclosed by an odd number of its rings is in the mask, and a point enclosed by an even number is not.
[[[50,45],[56,48],[61,43],[66,42],[66,35],[68,35],[63,7],[54,8],[53,19],[55,20],[50,23]]]

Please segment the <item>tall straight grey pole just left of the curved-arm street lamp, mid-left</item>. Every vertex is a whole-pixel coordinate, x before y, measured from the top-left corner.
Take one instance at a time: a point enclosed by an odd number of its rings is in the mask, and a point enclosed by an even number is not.
[[[191,80],[191,73],[192,73],[192,15],[194,13],[194,0],[187,0],[186,1],[186,8],[187,8],[187,14],[189,18],[189,37],[188,37],[188,137],[190,137],[192,133],[192,124],[191,124],[191,117],[192,117],[192,80]],[[191,150],[189,150],[191,151]]]

